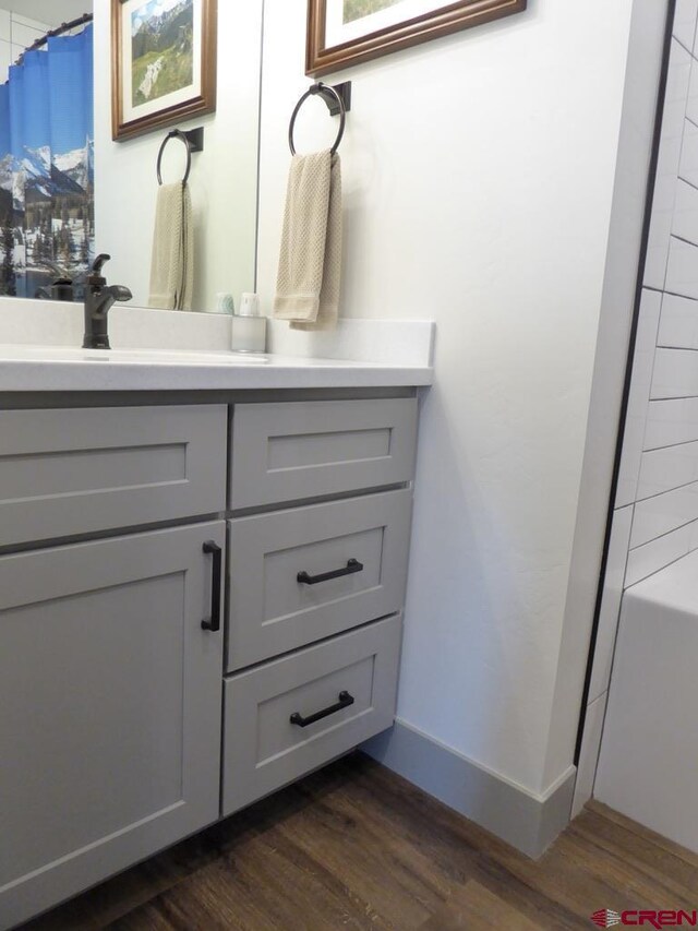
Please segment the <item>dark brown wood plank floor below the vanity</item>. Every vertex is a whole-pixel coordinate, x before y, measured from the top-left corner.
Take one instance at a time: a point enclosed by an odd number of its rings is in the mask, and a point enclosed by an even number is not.
[[[600,908],[698,908],[698,857],[592,803],[533,862],[356,754],[25,931],[589,931]]]

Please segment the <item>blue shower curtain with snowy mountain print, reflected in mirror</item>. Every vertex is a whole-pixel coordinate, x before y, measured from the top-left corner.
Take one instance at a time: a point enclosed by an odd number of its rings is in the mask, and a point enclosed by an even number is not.
[[[0,294],[35,297],[94,254],[93,29],[27,51],[0,86]]]

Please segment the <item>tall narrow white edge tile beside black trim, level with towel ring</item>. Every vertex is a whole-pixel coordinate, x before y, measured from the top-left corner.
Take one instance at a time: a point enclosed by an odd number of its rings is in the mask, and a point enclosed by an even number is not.
[[[674,39],[669,63],[664,117],[662,119],[657,179],[652,200],[652,218],[645,265],[643,284],[652,288],[661,289],[663,287],[666,273],[669,238],[674,213],[676,178],[681,162],[690,75],[690,55]]]

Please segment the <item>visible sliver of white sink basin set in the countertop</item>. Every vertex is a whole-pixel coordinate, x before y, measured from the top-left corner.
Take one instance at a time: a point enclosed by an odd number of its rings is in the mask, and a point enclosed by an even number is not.
[[[263,366],[269,357],[252,353],[186,353],[161,349],[80,349],[72,346],[0,345],[1,361],[111,362],[144,366]]]

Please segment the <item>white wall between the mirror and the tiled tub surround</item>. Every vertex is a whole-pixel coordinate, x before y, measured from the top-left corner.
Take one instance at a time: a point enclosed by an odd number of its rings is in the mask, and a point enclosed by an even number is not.
[[[265,10],[260,290],[273,300],[304,0]],[[529,10],[353,81],[342,313],[437,321],[399,716],[544,791],[631,0]],[[322,104],[298,147],[333,138]],[[318,134],[309,120],[318,120]],[[583,666],[585,657],[576,657]],[[568,760],[567,763],[570,763]]]

